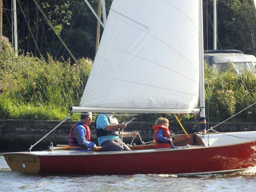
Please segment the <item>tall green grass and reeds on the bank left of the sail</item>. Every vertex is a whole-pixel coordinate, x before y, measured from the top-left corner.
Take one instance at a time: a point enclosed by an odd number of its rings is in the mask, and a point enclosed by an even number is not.
[[[61,120],[78,106],[92,60],[56,61],[50,55],[15,57],[6,38],[0,50],[0,118]],[[74,117],[73,117],[74,118]],[[76,118],[76,117],[75,117]]]

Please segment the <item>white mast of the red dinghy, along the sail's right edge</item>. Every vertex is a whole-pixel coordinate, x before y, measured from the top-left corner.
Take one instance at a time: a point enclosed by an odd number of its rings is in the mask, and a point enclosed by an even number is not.
[[[199,2],[199,91],[200,117],[199,132],[206,132],[206,118],[204,108],[204,39],[203,39],[203,4]]]

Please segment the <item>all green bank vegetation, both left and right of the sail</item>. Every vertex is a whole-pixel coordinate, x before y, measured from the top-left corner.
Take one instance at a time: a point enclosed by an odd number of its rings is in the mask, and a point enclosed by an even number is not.
[[[7,38],[0,41],[0,119],[63,120],[70,106],[78,106],[92,68],[92,60],[60,62],[50,55],[37,58],[32,54],[18,57]],[[240,76],[226,72],[219,76],[205,67],[205,112],[208,121],[223,121],[256,102],[255,72]],[[231,120],[256,121],[256,105]],[[138,120],[155,121],[164,116],[141,115]],[[72,116],[72,120],[78,119]],[[122,118],[122,117],[121,117]],[[183,120],[198,120],[183,115]]]

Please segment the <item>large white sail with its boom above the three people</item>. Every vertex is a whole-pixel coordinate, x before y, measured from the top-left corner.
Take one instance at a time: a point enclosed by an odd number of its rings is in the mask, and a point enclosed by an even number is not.
[[[198,112],[199,2],[114,0],[80,107]]]

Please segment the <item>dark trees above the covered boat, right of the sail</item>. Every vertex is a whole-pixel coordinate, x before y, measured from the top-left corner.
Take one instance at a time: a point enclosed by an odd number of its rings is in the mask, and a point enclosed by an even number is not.
[[[212,4],[212,0],[204,0],[204,50],[213,49]],[[217,29],[218,49],[237,49],[254,55],[252,37],[256,42],[256,13],[253,0],[217,0]]]

